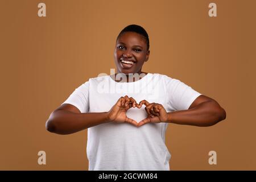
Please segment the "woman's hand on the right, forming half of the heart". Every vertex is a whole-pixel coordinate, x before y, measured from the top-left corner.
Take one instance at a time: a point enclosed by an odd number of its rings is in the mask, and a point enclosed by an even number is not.
[[[145,110],[148,114],[147,118],[142,119],[138,123],[138,126],[142,126],[146,123],[160,123],[160,122],[166,122],[168,119],[168,114],[166,112],[166,109],[161,104],[158,103],[149,103],[146,100],[143,100],[139,102],[139,105],[137,106],[138,108],[141,108],[142,105],[146,105]]]

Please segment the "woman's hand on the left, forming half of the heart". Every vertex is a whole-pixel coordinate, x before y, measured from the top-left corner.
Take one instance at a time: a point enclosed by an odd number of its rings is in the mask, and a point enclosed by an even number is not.
[[[138,123],[131,118],[128,118],[126,111],[131,107],[138,107],[139,105],[133,97],[120,97],[115,105],[108,111],[108,119],[110,122],[123,123],[128,122],[134,126]]]

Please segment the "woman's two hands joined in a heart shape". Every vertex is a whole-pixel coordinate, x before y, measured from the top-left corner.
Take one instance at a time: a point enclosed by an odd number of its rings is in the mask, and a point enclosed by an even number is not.
[[[147,112],[147,118],[142,119],[139,123],[134,121],[131,118],[128,118],[126,115],[127,110],[131,107],[137,107],[141,109],[142,105],[145,105],[144,108]],[[166,122],[168,119],[168,115],[166,110],[161,104],[157,104],[155,102],[149,103],[146,100],[143,100],[137,104],[133,97],[120,97],[115,103],[115,105],[108,111],[109,121],[116,123],[128,122],[134,126],[142,126],[146,123],[159,123]]]

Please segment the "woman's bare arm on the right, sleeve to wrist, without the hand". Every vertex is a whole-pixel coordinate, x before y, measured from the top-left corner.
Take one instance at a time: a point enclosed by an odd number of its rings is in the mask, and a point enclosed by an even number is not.
[[[167,113],[168,121],[180,125],[212,126],[226,118],[226,111],[217,101],[199,96],[188,110]]]

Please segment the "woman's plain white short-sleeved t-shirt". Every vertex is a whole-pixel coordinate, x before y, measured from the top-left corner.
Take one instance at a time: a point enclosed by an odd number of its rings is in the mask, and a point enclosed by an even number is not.
[[[162,104],[167,112],[186,110],[201,94],[183,82],[148,73],[135,82],[116,82],[109,75],[90,78],[63,102],[81,113],[109,111],[122,96]],[[127,117],[139,122],[147,117],[144,105],[131,107]],[[88,128],[89,170],[170,170],[171,154],[165,144],[168,123],[104,123]]]

